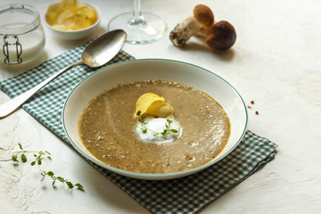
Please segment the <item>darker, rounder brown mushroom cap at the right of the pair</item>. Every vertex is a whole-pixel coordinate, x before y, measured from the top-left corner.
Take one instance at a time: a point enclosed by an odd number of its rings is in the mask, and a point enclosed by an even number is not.
[[[205,40],[210,48],[226,50],[235,44],[235,28],[228,21],[216,22],[212,26],[211,33]]]

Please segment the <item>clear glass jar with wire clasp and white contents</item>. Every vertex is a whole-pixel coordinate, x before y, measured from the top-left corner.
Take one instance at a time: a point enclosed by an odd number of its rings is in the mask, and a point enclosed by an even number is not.
[[[45,46],[39,12],[28,4],[0,7],[0,61],[21,64],[37,57]]]

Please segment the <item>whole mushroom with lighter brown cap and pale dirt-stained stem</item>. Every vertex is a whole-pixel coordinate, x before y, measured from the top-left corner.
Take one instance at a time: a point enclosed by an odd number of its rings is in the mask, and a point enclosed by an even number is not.
[[[177,24],[170,32],[169,39],[176,46],[183,46],[190,37],[196,36],[201,29],[210,29],[214,23],[214,14],[204,4],[198,4],[193,9],[193,15]]]

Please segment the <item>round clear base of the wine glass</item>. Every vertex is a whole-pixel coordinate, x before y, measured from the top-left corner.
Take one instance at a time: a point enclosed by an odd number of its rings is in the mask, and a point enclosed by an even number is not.
[[[149,12],[142,12],[142,20],[134,21],[133,12],[121,13],[111,19],[107,29],[123,29],[130,44],[151,43],[160,39],[166,32],[166,24],[160,17]]]

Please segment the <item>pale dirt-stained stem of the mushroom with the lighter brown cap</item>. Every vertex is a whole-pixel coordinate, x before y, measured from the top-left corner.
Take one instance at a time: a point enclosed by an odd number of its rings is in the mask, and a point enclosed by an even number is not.
[[[170,32],[169,39],[174,45],[181,47],[185,45],[190,37],[197,35],[201,29],[202,25],[199,24],[192,15],[177,24]]]

